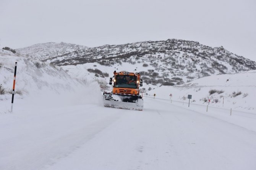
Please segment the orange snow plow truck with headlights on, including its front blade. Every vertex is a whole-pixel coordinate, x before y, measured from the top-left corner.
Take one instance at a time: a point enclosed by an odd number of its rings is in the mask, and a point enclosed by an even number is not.
[[[143,110],[142,95],[139,87],[143,85],[139,73],[127,71],[114,71],[109,84],[113,86],[112,92],[104,92],[103,100],[105,107],[122,108],[130,110]]]

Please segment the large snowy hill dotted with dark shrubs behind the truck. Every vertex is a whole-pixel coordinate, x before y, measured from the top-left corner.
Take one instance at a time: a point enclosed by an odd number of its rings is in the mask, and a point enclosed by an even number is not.
[[[32,46],[18,51],[39,55]],[[48,58],[45,45],[38,51],[44,56],[42,61],[62,66],[65,70],[76,72],[76,68],[84,69],[102,78],[106,73],[112,75],[113,70],[136,71],[141,73],[144,83],[153,86],[183,84],[210,75],[256,70],[256,62],[233,54],[222,46],[212,48],[196,41],[176,39],[80,48],[61,55],[51,54]]]

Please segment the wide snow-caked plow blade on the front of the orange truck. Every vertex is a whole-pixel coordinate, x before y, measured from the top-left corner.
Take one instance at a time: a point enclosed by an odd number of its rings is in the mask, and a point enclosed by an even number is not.
[[[103,100],[105,107],[139,111],[143,110],[143,99],[138,95],[118,95],[104,92]]]

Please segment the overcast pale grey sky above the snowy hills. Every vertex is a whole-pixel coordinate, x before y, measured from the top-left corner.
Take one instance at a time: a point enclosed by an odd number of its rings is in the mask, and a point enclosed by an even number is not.
[[[256,61],[255,0],[0,0],[0,46],[178,38]]]

